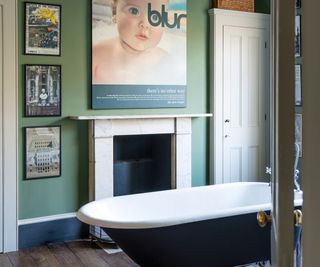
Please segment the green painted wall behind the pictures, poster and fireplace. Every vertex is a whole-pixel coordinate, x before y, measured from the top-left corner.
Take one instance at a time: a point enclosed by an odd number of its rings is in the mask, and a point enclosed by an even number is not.
[[[19,219],[76,211],[88,196],[87,122],[72,121],[70,115],[122,115],[128,110],[90,110],[90,3],[91,0],[43,0],[62,5],[62,52],[56,56],[23,54],[24,1],[18,0],[19,39]],[[257,9],[268,12],[268,0]],[[187,108],[139,109],[130,114],[206,113],[208,107],[208,15],[210,0],[188,1]],[[25,118],[24,64],[61,64],[62,116]],[[58,178],[25,180],[23,177],[23,127],[61,125],[62,175]],[[192,138],[192,184],[208,179],[208,119],[194,119]]]

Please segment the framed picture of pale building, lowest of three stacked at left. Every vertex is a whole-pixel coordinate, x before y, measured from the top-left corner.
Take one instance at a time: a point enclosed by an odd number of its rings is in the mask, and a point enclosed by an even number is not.
[[[25,179],[61,176],[61,127],[25,128]]]

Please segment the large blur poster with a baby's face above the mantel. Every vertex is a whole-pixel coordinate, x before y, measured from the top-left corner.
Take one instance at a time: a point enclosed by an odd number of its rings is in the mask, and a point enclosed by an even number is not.
[[[92,0],[92,108],[186,106],[186,0]]]

